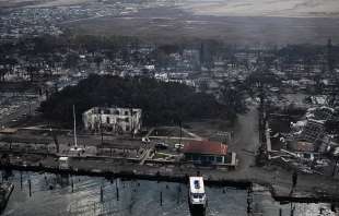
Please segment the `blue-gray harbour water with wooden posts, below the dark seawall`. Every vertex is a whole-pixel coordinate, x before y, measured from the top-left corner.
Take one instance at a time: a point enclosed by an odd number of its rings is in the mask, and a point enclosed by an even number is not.
[[[97,177],[72,177],[63,179],[50,173],[23,172],[21,189],[20,172],[10,178],[15,189],[3,215],[44,216],[44,215],[117,215],[117,216],[189,216],[187,187],[180,183],[153,181],[120,181],[119,201],[116,196],[116,182]],[[32,181],[32,196],[28,192],[28,179]],[[52,185],[52,190],[50,190]],[[101,202],[101,187],[103,202]],[[163,205],[160,205],[160,193]],[[247,192],[233,188],[207,188],[207,215],[247,215]],[[267,191],[254,193],[254,211],[264,216],[291,215],[291,205],[280,205]],[[328,212],[328,204],[293,204],[295,216],[318,216],[320,208]],[[335,215],[327,213],[323,215]]]

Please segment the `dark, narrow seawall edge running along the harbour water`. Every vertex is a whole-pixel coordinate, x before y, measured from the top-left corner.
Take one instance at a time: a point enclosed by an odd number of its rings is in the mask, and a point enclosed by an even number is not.
[[[103,171],[103,170],[85,170],[85,169],[59,169],[55,167],[44,167],[44,166],[17,166],[17,165],[1,165],[0,168],[2,170],[16,170],[16,171],[33,171],[33,172],[49,172],[56,175],[71,175],[71,176],[89,176],[89,177],[104,177],[106,179],[115,179],[121,178],[122,180],[149,180],[149,181],[165,181],[165,182],[178,182],[178,183],[187,183],[187,179],[189,175],[182,176],[170,176],[165,173],[161,173],[160,171],[155,172],[155,175],[150,173],[141,173],[137,171],[121,170],[119,172],[114,171]],[[231,171],[232,172],[232,171]],[[203,175],[202,175],[203,176]],[[268,189],[271,197],[280,203],[329,203],[329,204],[338,204],[339,203],[339,194],[329,195],[329,194],[309,194],[303,196],[289,196],[281,194],[278,190],[276,190],[274,185],[270,182],[262,181],[259,179],[204,179],[206,185],[209,187],[232,187],[241,190],[252,190],[253,185],[257,184],[259,187],[264,187]]]

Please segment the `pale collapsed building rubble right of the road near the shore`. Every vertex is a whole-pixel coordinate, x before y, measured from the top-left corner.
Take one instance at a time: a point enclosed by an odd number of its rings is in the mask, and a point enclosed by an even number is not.
[[[326,130],[326,122],[337,118],[330,107],[313,107],[304,117],[290,122],[290,132],[270,131],[274,145],[269,159],[307,173],[329,175],[336,170],[339,144],[336,134]]]

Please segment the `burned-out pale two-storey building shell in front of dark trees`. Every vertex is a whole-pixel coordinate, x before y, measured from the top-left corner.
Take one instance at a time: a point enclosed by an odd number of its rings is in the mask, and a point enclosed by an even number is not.
[[[138,133],[141,129],[141,109],[94,107],[82,115],[84,129],[112,133]]]

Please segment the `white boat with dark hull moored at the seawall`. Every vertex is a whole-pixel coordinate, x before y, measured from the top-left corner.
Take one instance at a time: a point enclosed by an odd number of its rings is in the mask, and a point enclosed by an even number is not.
[[[188,204],[191,215],[204,215],[207,196],[202,177],[189,177]]]

